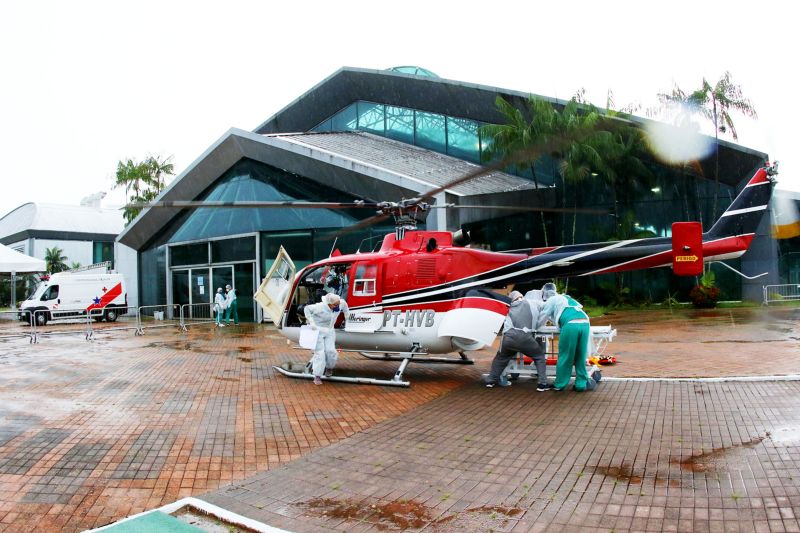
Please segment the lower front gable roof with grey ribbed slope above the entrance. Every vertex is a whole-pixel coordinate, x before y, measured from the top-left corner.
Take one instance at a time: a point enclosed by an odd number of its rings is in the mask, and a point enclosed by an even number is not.
[[[158,200],[194,200],[244,158],[376,201],[416,196],[480,168],[467,161],[364,132],[259,135],[234,128],[182,172]],[[527,180],[493,172],[445,192],[459,197],[534,188]],[[176,208],[145,209],[118,240],[140,249],[180,212]]]

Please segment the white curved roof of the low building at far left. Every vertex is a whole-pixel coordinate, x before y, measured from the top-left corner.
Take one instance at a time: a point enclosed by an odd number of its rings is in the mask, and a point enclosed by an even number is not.
[[[15,242],[28,237],[74,239],[84,236],[113,240],[125,221],[122,210],[77,205],[30,202],[0,219],[0,240]]]

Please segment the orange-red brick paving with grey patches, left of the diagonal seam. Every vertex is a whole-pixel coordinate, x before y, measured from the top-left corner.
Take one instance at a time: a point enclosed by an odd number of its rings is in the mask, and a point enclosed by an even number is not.
[[[410,368],[412,389],[290,380],[305,352],[266,326],[0,343],[0,530],[78,531],[241,480],[477,379]],[[391,378],[357,356],[343,372]],[[441,368],[441,367],[439,367]]]

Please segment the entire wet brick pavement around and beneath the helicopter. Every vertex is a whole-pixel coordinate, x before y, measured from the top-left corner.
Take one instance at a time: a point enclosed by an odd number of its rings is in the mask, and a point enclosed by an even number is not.
[[[606,376],[798,373],[800,309],[618,313]],[[195,496],[294,531],[800,531],[800,383],[410,389],[290,380],[267,326],[0,342],[0,529],[78,531]],[[343,355],[342,374],[392,363]]]

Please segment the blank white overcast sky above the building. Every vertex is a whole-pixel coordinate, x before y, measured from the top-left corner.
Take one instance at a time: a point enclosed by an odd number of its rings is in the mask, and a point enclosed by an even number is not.
[[[780,187],[800,190],[791,5],[2,2],[0,216],[99,191],[121,205],[118,160],[173,156],[179,174],[229,128],[252,130],[342,66],[419,65],[564,99],[583,87],[599,106],[610,89],[617,107],[728,70],[758,112],[734,115],[739,143],[779,160]]]

